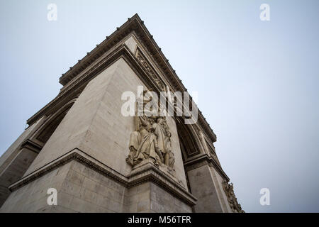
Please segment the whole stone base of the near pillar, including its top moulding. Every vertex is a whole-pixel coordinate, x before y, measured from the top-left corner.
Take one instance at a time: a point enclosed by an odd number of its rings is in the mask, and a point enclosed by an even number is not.
[[[57,205],[47,204],[49,188],[57,189]],[[191,212],[196,203],[150,163],[125,177],[77,149],[10,189],[1,212]]]

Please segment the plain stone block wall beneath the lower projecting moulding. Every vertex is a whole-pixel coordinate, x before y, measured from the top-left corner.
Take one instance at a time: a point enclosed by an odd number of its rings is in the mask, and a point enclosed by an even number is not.
[[[47,205],[47,189],[57,205]],[[165,202],[166,205],[159,206]],[[31,209],[32,206],[32,209]],[[190,212],[191,206],[147,182],[125,187],[75,160],[13,192],[1,212]]]

